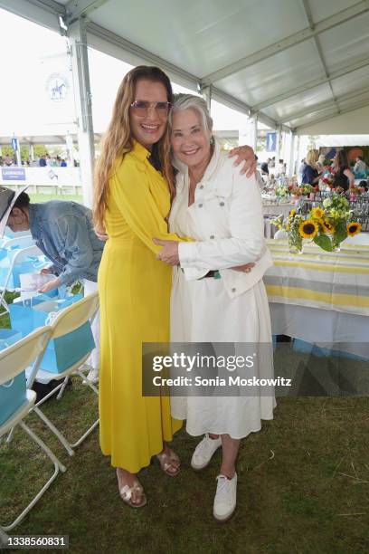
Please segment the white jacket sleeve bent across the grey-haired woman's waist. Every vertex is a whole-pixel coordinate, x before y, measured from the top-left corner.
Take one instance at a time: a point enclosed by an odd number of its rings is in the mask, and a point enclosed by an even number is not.
[[[219,270],[255,262],[264,250],[264,229],[260,189],[255,177],[246,180],[230,172],[233,181],[229,197],[230,237],[179,244],[181,267]],[[192,272],[187,271],[191,278]]]

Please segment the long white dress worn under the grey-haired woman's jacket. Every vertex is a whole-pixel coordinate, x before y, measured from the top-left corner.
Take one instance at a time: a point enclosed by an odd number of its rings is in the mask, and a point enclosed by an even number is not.
[[[188,178],[185,181],[184,188],[175,197],[172,208],[175,217],[170,217],[170,230],[181,236],[206,240],[206,233],[191,215],[192,206],[188,207]],[[248,186],[246,180],[244,186]],[[271,344],[270,310],[264,283],[260,279],[250,290],[230,298],[222,278],[186,281],[182,269],[175,268],[171,341]],[[213,346],[216,352],[216,344]],[[273,377],[272,349],[261,368],[262,376],[260,368],[255,371],[257,377]],[[273,418],[274,394],[262,396],[260,389],[254,391],[256,396],[172,396],[172,416],[186,420],[190,435],[228,434],[241,439],[260,431],[261,419]]]

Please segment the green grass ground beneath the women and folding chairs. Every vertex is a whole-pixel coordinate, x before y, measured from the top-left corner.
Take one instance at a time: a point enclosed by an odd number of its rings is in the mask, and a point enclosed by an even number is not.
[[[71,440],[98,415],[97,396],[72,380],[61,401],[43,406]],[[238,507],[222,526],[212,514],[221,453],[194,473],[189,461],[198,438],[185,430],[173,442],[181,472],[171,478],[156,462],[144,469],[148,504],[135,511],[119,499],[97,430],[70,458],[38,418],[26,421],[67,472],[12,534],[66,534],[73,554],[369,551],[367,397],[279,398],[274,420],[241,442]],[[12,521],[51,474],[52,464],[18,427],[13,442],[0,446],[0,521]]]

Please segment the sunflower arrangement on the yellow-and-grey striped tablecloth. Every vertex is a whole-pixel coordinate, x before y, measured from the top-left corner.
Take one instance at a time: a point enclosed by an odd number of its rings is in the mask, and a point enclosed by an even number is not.
[[[303,239],[310,239],[327,252],[339,250],[347,235],[360,233],[361,224],[349,210],[345,196],[333,194],[323,201],[322,207],[310,210],[307,217],[291,210],[286,220],[279,215],[271,221],[289,236],[289,252],[302,253]]]

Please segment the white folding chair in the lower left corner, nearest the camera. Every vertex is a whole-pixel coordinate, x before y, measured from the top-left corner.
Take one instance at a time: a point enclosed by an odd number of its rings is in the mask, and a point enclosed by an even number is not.
[[[50,339],[52,330],[50,327],[43,327],[38,330],[34,330],[33,333],[14,343],[14,345],[4,349],[0,352],[0,387],[7,384],[8,381],[18,376],[25,368],[30,366],[33,362],[34,367],[40,363],[43,358],[43,353],[46,349],[47,343]],[[65,467],[62,465],[58,458],[52,453],[50,448],[43,443],[41,438],[37,436],[27,425],[24,423],[24,418],[32,411],[36,394],[33,390],[26,390],[26,398],[24,403],[9,416],[4,423],[0,425],[0,437],[7,434],[15,425],[20,425],[25,433],[29,435],[33,441],[38,444],[43,452],[50,458],[54,466],[54,472],[52,477],[43,485],[40,492],[33,497],[33,500],[28,504],[24,511],[22,511],[15,520],[9,525],[0,525],[0,538],[5,539],[5,531],[14,529],[14,527],[24,519],[24,516],[33,508],[34,504],[43,496],[43,493],[50,487],[58,473],[65,472]]]

